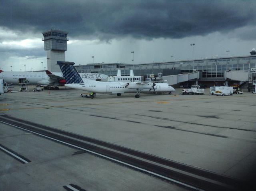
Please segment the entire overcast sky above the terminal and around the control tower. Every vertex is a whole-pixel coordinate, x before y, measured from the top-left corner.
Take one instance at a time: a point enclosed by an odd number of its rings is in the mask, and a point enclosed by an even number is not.
[[[132,51],[135,64],[247,56],[256,48],[256,1],[2,0],[0,70],[47,67],[42,32],[51,28],[69,32],[66,61],[76,65],[92,56],[132,64]]]

